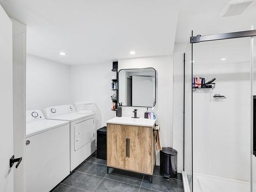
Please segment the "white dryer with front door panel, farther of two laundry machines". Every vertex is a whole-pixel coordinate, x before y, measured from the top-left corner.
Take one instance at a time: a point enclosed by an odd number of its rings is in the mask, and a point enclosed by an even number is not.
[[[44,110],[46,119],[70,122],[70,172],[96,151],[95,114],[78,114],[72,104]]]

